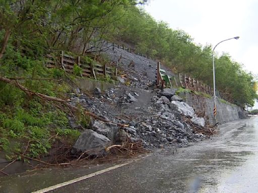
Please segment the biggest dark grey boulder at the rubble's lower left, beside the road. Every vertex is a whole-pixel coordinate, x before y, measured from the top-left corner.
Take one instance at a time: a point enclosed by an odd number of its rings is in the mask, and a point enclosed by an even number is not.
[[[104,135],[101,135],[91,129],[85,130],[73,146],[73,153],[85,152],[88,155],[102,155],[105,147],[112,145],[112,142]]]

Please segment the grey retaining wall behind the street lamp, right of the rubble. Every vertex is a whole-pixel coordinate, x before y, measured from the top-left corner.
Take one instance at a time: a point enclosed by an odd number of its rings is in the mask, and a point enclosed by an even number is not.
[[[197,114],[205,114],[209,118],[210,124],[212,124],[213,98],[205,98],[204,96],[188,92],[182,92],[179,95],[185,99],[189,106],[195,109]],[[242,108],[230,103],[223,103],[217,99],[217,121],[219,124],[236,121],[240,119],[239,114],[244,114]]]

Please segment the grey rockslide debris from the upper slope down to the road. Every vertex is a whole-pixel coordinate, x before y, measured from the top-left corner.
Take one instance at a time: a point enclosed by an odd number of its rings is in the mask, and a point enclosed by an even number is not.
[[[95,88],[91,97],[73,94],[71,104],[80,103],[97,116],[113,123],[126,124],[127,127],[118,128],[116,124],[95,120],[85,130],[73,123],[72,127],[82,130],[74,151],[96,148],[97,155],[103,153],[106,146],[121,144],[128,138],[142,141],[148,149],[183,147],[206,137],[191,127],[204,127],[204,118],[198,118],[193,109],[176,95],[177,89],[154,88],[154,61],[116,48],[107,53],[112,61],[117,60],[120,54],[127,57],[122,57],[118,66],[123,75],[117,77],[117,86],[109,90]],[[131,60],[134,60],[136,70],[128,68]]]

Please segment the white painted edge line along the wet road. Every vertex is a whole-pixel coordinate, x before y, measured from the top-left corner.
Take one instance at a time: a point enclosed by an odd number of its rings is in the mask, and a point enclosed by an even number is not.
[[[145,156],[145,157],[148,157],[149,155]],[[122,167],[124,165],[128,165],[130,163],[133,163],[135,161],[138,161],[142,158],[138,158],[138,159],[135,159],[135,160],[132,160],[132,161],[128,161],[126,163],[122,163],[122,164],[118,164],[118,165],[114,165],[112,167],[109,167],[109,168],[106,168],[106,169],[102,169],[100,171],[96,171],[94,173],[91,173],[91,174],[88,174],[88,175],[84,175],[82,177],[78,177],[78,178],[75,178],[75,179],[72,179],[72,180],[69,180],[69,181],[65,181],[65,182],[62,182],[62,183],[58,183],[56,185],[52,185],[52,186],[49,186],[49,187],[46,187],[44,189],[40,189],[40,190],[37,190],[37,191],[33,191],[31,193],[44,193],[44,192],[48,192],[48,191],[51,191],[51,190],[54,190],[54,189],[57,189],[57,188],[60,188],[60,187],[63,187],[63,186],[66,186],[66,185],[69,185],[69,184],[72,184],[72,183],[76,183],[78,181],[82,181],[84,179],[87,179],[87,178],[90,178],[90,177],[93,177],[93,176],[96,176],[96,175],[99,175],[99,174],[102,174],[104,172],[107,172],[107,171],[110,171],[110,170],[113,170],[113,169],[116,169],[118,167]]]

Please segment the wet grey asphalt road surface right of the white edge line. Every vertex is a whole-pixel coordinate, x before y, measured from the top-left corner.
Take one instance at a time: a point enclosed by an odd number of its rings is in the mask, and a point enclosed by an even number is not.
[[[79,170],[73,173],[80,176]],[[47,187],[36,183],[40,181],[29,183],[28,189]],[[218,136],[178,153],[156,153],[49,192],[258,192],[258,117],[225,124]]]

